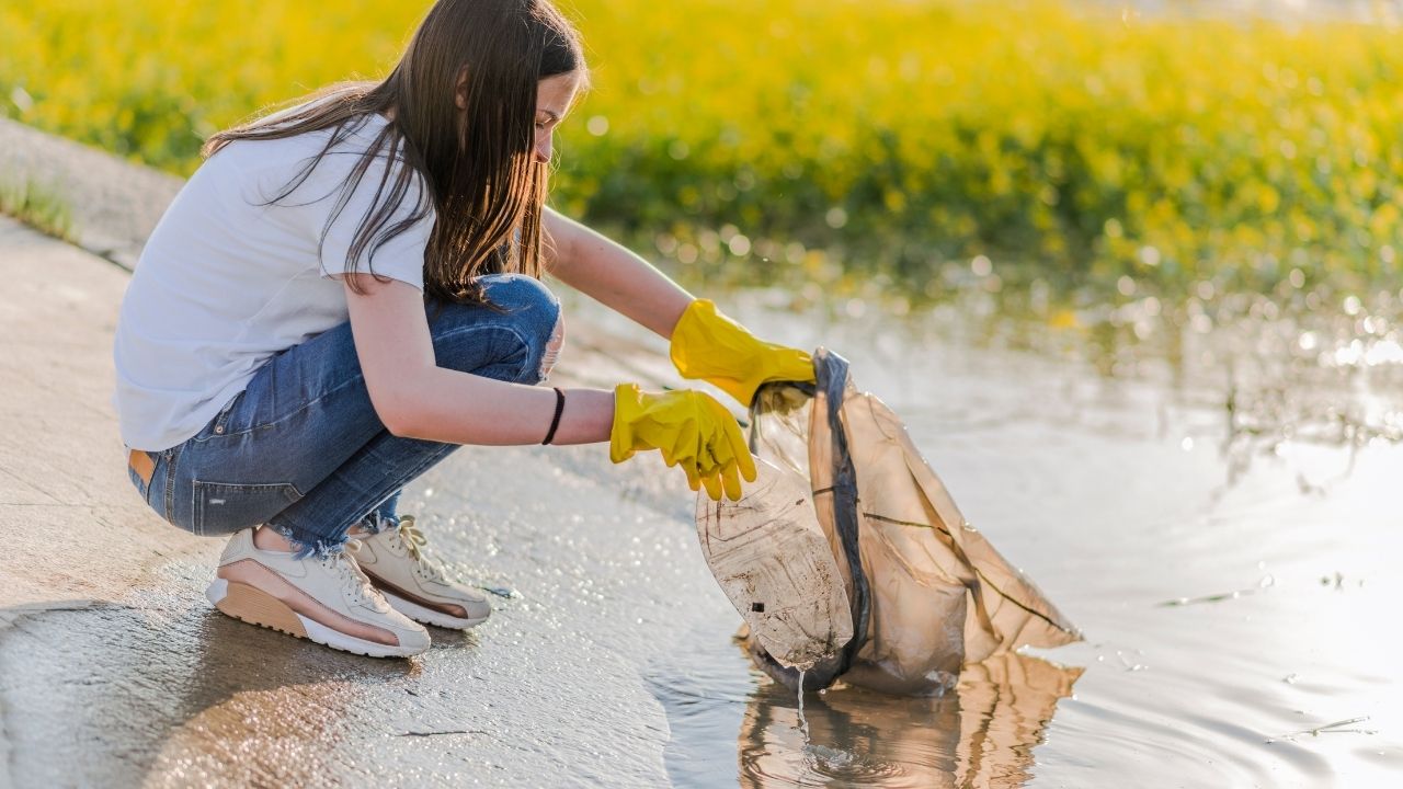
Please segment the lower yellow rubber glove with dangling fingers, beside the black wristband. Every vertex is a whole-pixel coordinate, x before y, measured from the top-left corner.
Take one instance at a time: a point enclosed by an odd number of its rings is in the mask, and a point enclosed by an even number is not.
[[[755,482],[755,459],[735,417],[706,392],[679,389],[651,393],[637,383],[615,389],[615,423],[609,459],[622,463],[640,449],[661,449],[668,466],[682,466],[692,490],[706,487],[713,501],[721,491],[741,498],[741,477]]]

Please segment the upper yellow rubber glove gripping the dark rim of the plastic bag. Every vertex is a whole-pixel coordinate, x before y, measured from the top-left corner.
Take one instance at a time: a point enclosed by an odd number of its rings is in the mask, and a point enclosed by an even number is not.
[[[812,357],[758,338],[707,299],[682,313],[672,330],[671,357],[682,378],[714,383],[746,407],[767,380],[814,380]]]

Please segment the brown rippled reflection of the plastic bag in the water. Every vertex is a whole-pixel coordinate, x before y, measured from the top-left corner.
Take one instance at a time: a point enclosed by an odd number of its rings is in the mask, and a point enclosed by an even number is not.
[[[808,694],[800,727],[793,692],[765,682],[739,734],[739,783],[808,786],[1021,786],[1033,748],[1080,668],[1003,654],[969,665],[944,696],[892,696],[853,687]]]

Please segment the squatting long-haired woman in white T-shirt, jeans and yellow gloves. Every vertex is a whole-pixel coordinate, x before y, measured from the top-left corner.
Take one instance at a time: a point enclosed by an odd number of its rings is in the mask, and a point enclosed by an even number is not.
[[[370,656],[424,651],[421,623],[483,622],[483,595],[396,514],[462,444],[659,449],[713,498],[755,479],[702,392],[535,386],[563,337],[547,271],[742,403],[812,378],[807,354],[544,208],[551,136],[585,80],[549,0],[441,0],[384,81],[209,140],[123,299],[114,402],[147,504],[233,533],[208,591],[220,611]]]

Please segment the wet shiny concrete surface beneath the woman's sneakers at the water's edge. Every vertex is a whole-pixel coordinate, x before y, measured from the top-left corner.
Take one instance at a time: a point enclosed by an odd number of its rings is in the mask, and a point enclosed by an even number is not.
[[[689,611],[727,604],[680,512],[616,483],[505,449],[460,451],[411,487],[404,510],[441,555],[515,590],[477,630],[434,630],[414,660],[227,619],[201,594],[201,560],[115,599],[22,612],[0,636],[11,774],[22,786],[664,785],[668,724],[643,671]]]

